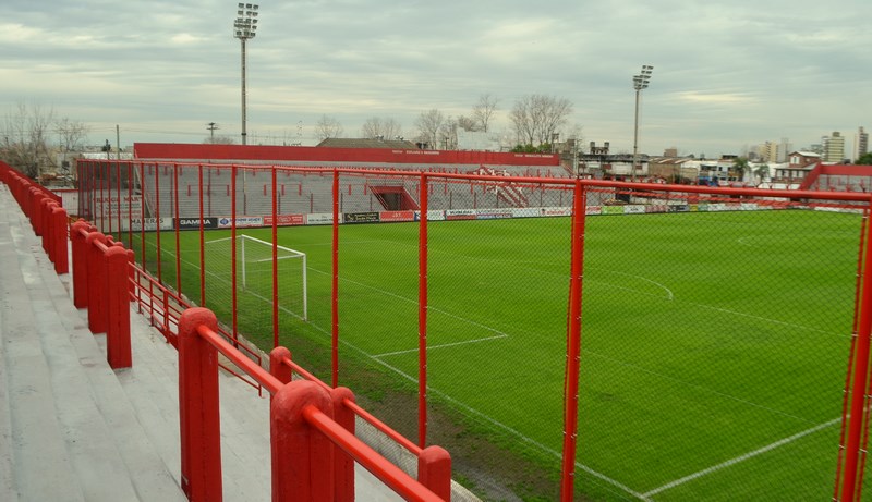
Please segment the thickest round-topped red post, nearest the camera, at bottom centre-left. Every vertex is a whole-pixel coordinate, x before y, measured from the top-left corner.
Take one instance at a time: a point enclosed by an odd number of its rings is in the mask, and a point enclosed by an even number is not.
[[[334,500],[328,468],[334,445],[306,421],[303,411],[308,406],[332,415],[330,395],[315,382],[296,380],[272,396],[269,424],[274,502]]]

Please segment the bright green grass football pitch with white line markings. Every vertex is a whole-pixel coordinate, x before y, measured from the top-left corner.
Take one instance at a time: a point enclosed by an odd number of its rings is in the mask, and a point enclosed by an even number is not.
[[[578,492],[832,497],[861,222],[801,210],[589,217]],[[271,229],[238,232],[271,240]],[[568,218],[432,222],[427,247],[428,397],[550,463],[555,476],[569,232]],[[165,281],[173,284],[174,240],[164,235]],[[228,235],[209,231],[206,240]],[[326,353],[331,228],[282,228],[278,238],[308,260],[308,321],[282,307],[280,342]],[[181,233],[183,290],[195,301],[197,246],[197,232]],[[206,304],[229,323],[228,257],[206,253]],[[414,389],[417,223],[342,225],[339,259],[340,358],[379,368],[386,387]],[[240,331],[267,350],[271,326],[255,318],[269,315],[269,287],[251,285],[239,301]],[[280,305],[295,287],[282,289]],[[312,364],[323,370],[323,359]],[[355,376],[342,371],[340,384],[353,389]],[[415,417],[410,409],[398,420]]]

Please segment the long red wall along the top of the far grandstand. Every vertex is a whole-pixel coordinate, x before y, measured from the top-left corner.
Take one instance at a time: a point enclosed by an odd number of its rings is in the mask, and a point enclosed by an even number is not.
[[[137,159],[196,159],[301,162],[379,162],[488,166],[559,166],[552,154],[510,154],[469,150],[405,150],[392,148],[322,148],[311,146],[243,146],[180,143],[135,143]]]

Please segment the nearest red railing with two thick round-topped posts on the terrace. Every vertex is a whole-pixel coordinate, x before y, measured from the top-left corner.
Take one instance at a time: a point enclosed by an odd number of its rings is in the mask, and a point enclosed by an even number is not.
[[[272,394],[272,500],[353,500],[354,465],[347,455],[407,500],[444,500],[427,488],[431,480],[412,479],[347,429],[353,425],[346,414],[351,391],[284,383],[228,343],[217,327],[215,315],[199,307],[185,310],[179,326],[182,489],[190,499],[221,500],[220,353]],[[440,473],[450,480],[450,460],[439,465],[448,466]]]

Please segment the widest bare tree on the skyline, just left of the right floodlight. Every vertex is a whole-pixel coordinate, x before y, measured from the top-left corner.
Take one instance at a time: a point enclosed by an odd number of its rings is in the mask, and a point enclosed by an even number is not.
[[[519,98],[509,118],[519,143],[542,145],[552,142],[571,113],[568,99],[533,94]]]

